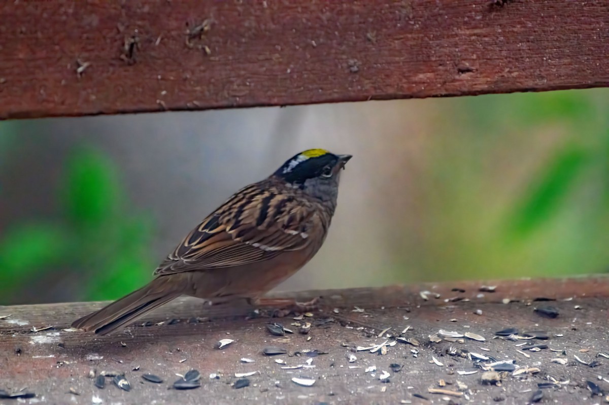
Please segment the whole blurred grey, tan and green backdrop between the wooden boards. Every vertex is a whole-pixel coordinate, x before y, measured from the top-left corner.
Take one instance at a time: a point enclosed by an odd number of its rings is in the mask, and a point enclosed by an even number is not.
[[[351,153],[279,289],[605,272],[609,90],[0,122],[0,305],[118,298],[241,186]]]

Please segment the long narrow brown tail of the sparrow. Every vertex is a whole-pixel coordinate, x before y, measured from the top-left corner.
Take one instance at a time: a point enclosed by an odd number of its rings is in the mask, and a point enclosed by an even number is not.
[[[164,291],[163,286],[155,285],[159,284],[158,280],[158,278],[153,280],[147,286],[125,295],[99,311],[75,320],[72,328],[105,335],[181,295],[175,293],[173,289]]]

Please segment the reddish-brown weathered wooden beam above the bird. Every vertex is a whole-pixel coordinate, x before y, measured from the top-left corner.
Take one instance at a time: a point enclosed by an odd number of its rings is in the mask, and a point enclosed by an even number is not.
[[[609,84],[605,0],[5,1],[0,119]]]

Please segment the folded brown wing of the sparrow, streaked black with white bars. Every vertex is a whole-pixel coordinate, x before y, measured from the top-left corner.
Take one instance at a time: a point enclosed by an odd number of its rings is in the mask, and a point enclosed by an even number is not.
[[[311,234],[325,232],[315,225],[320,221],[309,202],[247,186],[192,230],[155,275],[241,266],[299,250],[320,240]]]

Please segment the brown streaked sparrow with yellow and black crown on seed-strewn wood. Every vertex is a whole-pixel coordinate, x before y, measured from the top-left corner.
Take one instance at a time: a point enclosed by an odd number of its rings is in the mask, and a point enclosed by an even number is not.
[[[325,149],[294,155],[205,217],[161,262],[149,284],[72,327],[105,335],[180,295],[211,305],[261,302],[322,247],[340,174],[351,157]]]

